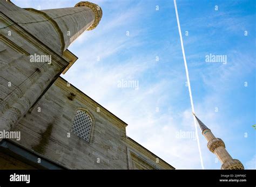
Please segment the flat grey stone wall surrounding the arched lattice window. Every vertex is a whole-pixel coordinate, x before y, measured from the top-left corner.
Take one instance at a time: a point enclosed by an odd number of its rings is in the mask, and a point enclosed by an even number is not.
[[[70,93],[73,93],[72,100]],[[77,110],[86,111],[92,118],[89,142],[71,132]],[[157,163],[157,156],[138,143],[133,145],[126,141],[126,125],[84,93],[58,78],[19,121],[15,131],[21,131],[21,140],[16,143],[69,169],[174,169],[167,163],[163,165],[161,160]],[[139,157],[136,161],[145,161],[148,168],[133,166],[131,150]]]

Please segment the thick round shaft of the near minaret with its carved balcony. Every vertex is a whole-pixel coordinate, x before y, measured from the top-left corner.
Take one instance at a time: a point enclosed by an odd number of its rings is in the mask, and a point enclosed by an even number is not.
[[[8,4],[6,11],[3,7],[6,16],[60,55],[80,34],[95,28],[102,18],[102,9],[90,2],[49,10],[22,9],[10,2],[1,4]]]

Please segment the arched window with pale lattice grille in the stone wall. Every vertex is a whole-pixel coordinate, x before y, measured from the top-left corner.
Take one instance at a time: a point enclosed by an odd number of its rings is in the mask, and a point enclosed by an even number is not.
[[[77,134],[80,138],[83,138],[85,141],[89,142],[91,128],[92,119],[89,114],[83,110],[78,110],[73,120],[71,131]]]

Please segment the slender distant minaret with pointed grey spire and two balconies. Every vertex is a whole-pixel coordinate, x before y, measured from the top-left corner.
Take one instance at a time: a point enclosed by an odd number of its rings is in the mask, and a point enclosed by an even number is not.
[[[194,114],[194,116],[196,117],[199,127],[201,128],[202,134],[208,141],[208,149],[217,155],[218,159],[222,163],[221,169],[244,169],[244,166],[242,166],[242,163],[239,160],[232,159],[225,148],[224,141],[220,138],[215,138],[211,130],[197,118],[196,114]]]

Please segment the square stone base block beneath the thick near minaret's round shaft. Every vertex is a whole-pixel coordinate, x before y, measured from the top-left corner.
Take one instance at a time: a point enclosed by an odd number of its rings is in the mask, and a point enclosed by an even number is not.
[[[18,24],[18,21],[34,19],[28,11],[6,1],[0,1],[0,8],[0,130],[3,131],[15,126],[69,65],[69,60],[31,34],[32,28]],[[44,37],[51,34],[56,32]],[[31,55],[50,57],[51,62],[31,60]]]

